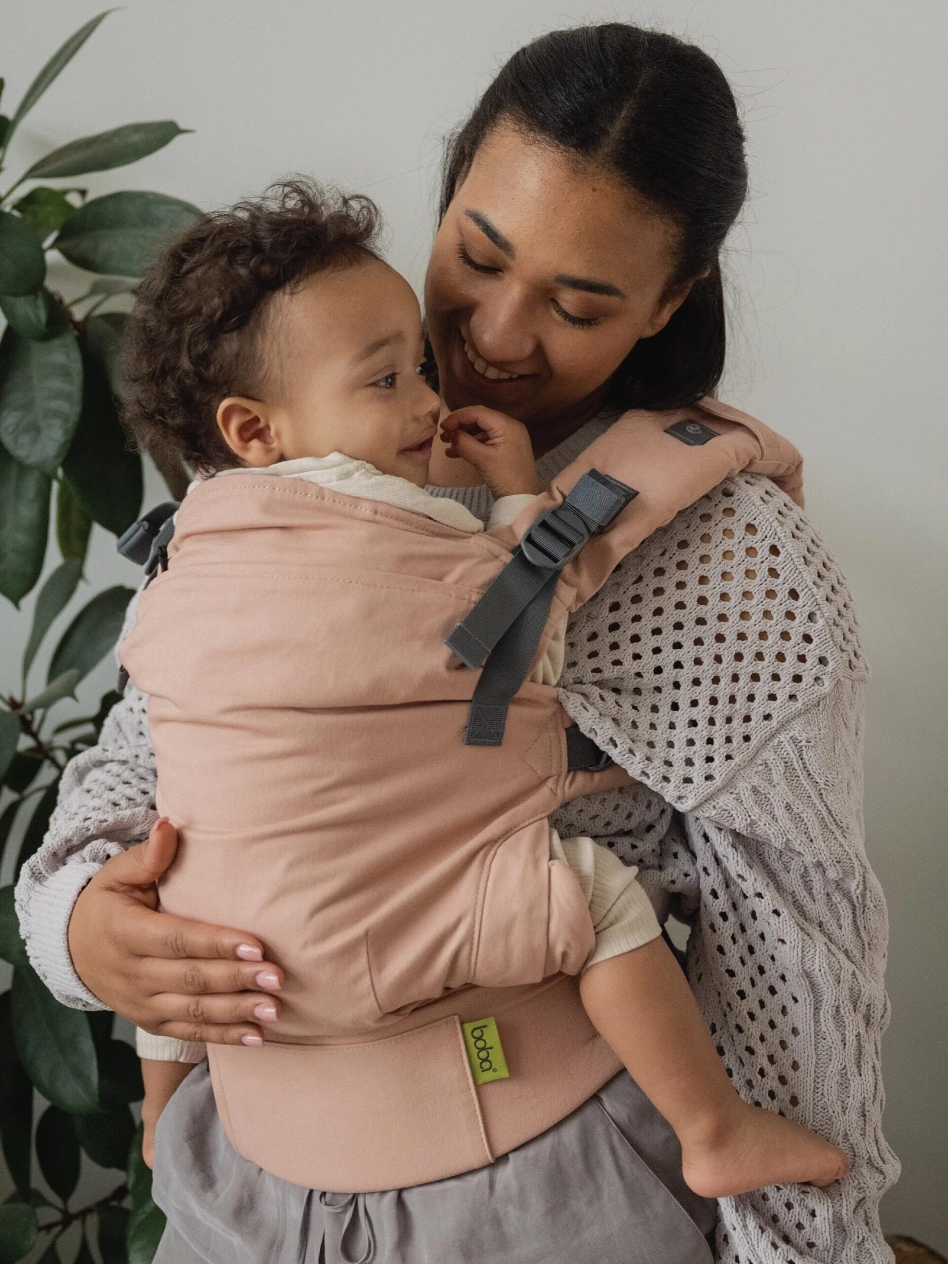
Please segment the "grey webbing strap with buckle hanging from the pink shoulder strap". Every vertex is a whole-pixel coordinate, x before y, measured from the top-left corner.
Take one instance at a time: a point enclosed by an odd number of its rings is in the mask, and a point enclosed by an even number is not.
[[[561,506],[528,528],[509,562],[447,637],[449,648],[469,667],[484,664],[465,744],[503,742],[509,703],[530,670],[560,571],[637,494],[608,474],[584,474]]]

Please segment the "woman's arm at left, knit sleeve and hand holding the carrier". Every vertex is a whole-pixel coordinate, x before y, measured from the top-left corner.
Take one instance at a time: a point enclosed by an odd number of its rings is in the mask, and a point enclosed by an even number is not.
[[[177,836],[153,825],[154,786],[145,699],[129,686],[99,746],[67,766],[43,846],[20,873],[30,961],[63,1005],[112,1009],[174,1039],[259,1044],[260,1023],[279,1012],[282,972],[253,935],[155,911]]]

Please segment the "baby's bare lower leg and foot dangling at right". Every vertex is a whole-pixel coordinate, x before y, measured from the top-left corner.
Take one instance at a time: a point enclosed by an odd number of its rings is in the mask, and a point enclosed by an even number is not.
[[[580,992],[593,1025],[675,1129],[695,1193],[722,1198],[846,1176],[836,1145],[737,1095],[662,939],[590,966]]]

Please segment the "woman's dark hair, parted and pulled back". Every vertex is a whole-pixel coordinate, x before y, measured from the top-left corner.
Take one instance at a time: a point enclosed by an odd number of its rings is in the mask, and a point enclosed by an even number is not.
[[[541,35],[509,58],[449,140],[441,217],[504,121],[623,179],[678,229],[672,284],[699,278],[665,329],[635,345],[611,402],[676,408],[713,393],[726,345],[719,250],[747,193],[743,129],[717,63],[627,23]]]

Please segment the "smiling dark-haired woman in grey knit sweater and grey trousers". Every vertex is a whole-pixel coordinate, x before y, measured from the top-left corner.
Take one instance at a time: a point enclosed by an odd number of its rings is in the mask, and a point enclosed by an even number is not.
[[[450,407],[531,430],[541,478],[624,408],[713,393],[719,248],[746,192],[731,90],[699,49],[624,24],[514,54],[447,157],[426,315]],[[483,488],[442,460],[475,512]],[[466,477],[465,477],[466,475]],[[839,571],[767,480],[738,477],[623,562],[569,628],[564,703],[636,777],[557,828],[608,839],[662,915],[691,920],[689,978],[742,1093],[837,1141],[849,1177],[722,1203],[717,1258],[891,1259],[877,1202],[885,906],[861,839],[865,665]],[[67,1004],[192,1040],[259,1043],[281,972],[238,932],[155,909],[144,700],[72,762],[19,908]],[[489,1168],[383,1194],[282,1186],[235,1155],[193,1072],[159,1127],[159,1259],[710,1258],[709,1208],[628,1077]],[[173,1155],[173,1158],[172,1158]],[[322,1254],[320,1254],[322,1253]]]

